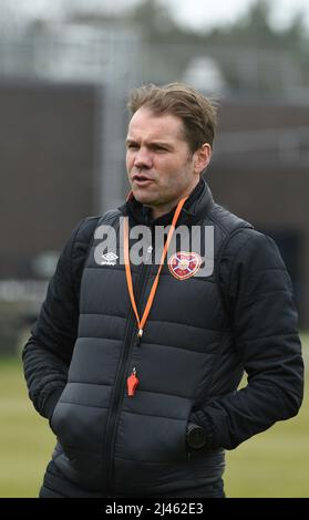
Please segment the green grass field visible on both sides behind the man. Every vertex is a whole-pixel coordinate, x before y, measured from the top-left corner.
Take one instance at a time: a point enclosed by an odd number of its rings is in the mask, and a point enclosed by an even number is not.
[[[302,340],[307,357],[309,335]],[[227,451],[228,497],[309,497],[306,393],[296,418]],[[0,361],[0,498],[37,497],[54,437],[28,399],[19,360]]]

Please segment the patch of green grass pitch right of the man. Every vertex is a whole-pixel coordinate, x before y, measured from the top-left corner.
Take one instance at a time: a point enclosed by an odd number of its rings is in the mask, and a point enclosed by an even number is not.
[[[306,379],[309,334],[302,334]],[[236,450],[227,451],[225,474],[229,497],[309,498],[309,391],[297,417],[279,422]]]

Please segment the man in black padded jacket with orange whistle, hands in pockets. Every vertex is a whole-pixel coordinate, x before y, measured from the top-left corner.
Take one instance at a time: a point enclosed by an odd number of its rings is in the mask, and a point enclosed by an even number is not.
[[[174,83],[137,89],[130,107],[132,193],[74,230],[23,351],[30,397],[58,437],[40,496],[224,497],[224,450],[301,404],[291,284],[274,241],[216,205],[200,178],[212,103]],[[137,226],[151,239],[140,264]],[[162,247],[159,226],[169,226]],[[198,251],[176,241],[171,253],[181,227],[202,231]]]

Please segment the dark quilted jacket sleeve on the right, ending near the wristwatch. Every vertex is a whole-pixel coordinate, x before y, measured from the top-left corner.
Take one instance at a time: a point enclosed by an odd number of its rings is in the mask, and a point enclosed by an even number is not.
[[[248,229],[234,236],[222,266],[245,388],[193,414],[210,448],[233,449],[298,413],[303,364],[289,275],[275,242]]]

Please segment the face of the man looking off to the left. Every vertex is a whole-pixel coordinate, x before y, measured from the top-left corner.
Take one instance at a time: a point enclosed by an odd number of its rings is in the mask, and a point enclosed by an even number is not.
[[[141,107],[130,122],[126,148],[133,195],[153,209],[153,218],[168,212],[199,180],[183,122],[172,114],[156,116]]]

